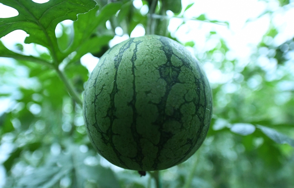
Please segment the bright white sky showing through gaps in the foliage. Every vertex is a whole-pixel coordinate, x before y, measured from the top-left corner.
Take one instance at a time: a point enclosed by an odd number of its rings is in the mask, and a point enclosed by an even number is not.
[[[49,0],[33,1],[44,3]],[[272,24],[279,31],[279,34],[273,39],[275,46],[279,46],[294,36],[294,0],[290,0],[291,3],[284,8],[279,7],[278,1],[276,0],[269,0],[269,3],[258,0],[182,0],[184,8],[193,2],[194,5],[184,13],[184,17],[193,18],[205,14],[210,20],[228,21],[230,24],[230,27],[227,28],[226,26],[190,20],[186,21],[186,24],[177,30],[183,20],[172,18],[168,26],[168,30],[171,31],[172,36],[175,36],[182,43],[194,41],[196,51],[199,53],[214,48],[219,38],[223,38],[230,48],[230,53],[227,54],[228,58],[230,56],[231,58],[237,57],[242,61],[249,61],[249,55],[256,49],[262,36],[268,31],[271,19]],[[146,10],[148,11],[148,7],[146,9],[146,6],[143,6],[141,0],[134,0],[133,4],[137,9],[140,9],[141,14],[146,14]],[[264,11],[274,11],[272,18],[266,14],[256,19]],[[168,15],[170,14],[171,12],[168,12]],[[0,18],[8,18],[16,15],[18,15],[18,12],[15,9],[0,3]],[[248,19],[252,21],[246,23]],[[106,26],[109,27],[109,23]],[[116,28],[115,31],[117,35],[110,41],[110,46],[114,46],[130,37],[126,34],[122,35],[121,28]],[[207,41],[207,36],[210,31],[216,31],[217,35]],[[144,34],[144,28],[138,25],[131,33],[131,37],[143,36]],[[21,43],[24,45],[25,55],[36,56],[38,53],[34,51],[34,44],[24,44],[26,36],[26,32],[18,30],[4,36],[0,40],[7,48],[13,51],[16,51],[14,47],[15,43]],[[38,46],[38,49],[40,51],[46,51],[41,46]],[[8,58],[0,58],[0,68],[4,64],[11,62]],[[91,72],[98,63],[98,58],[88,53],[81,58],[81,63]],[[224,77],[211,63],[203,63],[211,83],[225,83],[229,79],[230,75],[227,75],[229,77]],[[9,104],[12,104],[11,102],[7,98],[0,98],[0,115],[9,108]],[[4,182],[3,177],[3,166],[0,166],[1,183]]]

